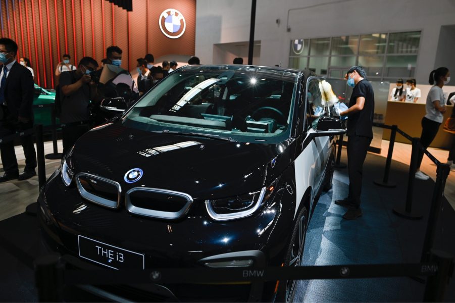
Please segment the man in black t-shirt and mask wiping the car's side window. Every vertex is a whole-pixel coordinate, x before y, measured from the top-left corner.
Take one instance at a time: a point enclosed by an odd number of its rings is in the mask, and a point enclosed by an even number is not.
[[[353,66],[346,74],[347,84],[353,87],[349,108],[339,113],[347,116],[347,167],[349,171],[349,194],[336,200],[335,204],[348,208],[343,218],[353,220],[362,216],[360,195],[362,191],[362,169],[367,149],[373,139],[374,93],[364,69]]]

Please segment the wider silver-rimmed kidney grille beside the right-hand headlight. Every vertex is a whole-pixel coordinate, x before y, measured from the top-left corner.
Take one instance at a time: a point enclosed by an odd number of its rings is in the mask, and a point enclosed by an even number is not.
[[[193,203],[190,195],[158,188],[134,187],[125,194],[128,212],[160,219],[179,219]]]

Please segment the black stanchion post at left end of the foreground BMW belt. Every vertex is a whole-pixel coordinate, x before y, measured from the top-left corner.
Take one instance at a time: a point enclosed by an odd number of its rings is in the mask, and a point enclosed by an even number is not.
[[[35,285],[39,302],[62,302],[64,265],[59,255],[45,255],[35,260]]]

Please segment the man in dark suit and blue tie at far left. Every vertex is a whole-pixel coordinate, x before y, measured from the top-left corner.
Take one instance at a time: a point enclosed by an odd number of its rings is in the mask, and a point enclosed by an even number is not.
[[[33,128],[34,82],[30,71],[16,61],[17,44],[9,38],[0,38],[0,137],[16,131]],[[19,179],[25,180],[36,175],[36,152],[31,135],[22,136],[25,169],[19,175],[14,142],[0,144],[0,155],[5,174],[0,183]]]

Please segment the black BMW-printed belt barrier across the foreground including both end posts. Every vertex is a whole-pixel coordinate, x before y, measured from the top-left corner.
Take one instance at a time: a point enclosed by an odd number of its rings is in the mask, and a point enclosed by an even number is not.
[[[453,270],[453,257],[432,250],[431,262],[412,264],[330,265],[266,268],[153,268],[115,270],[65,269],[64,258],[42,256],[35,261],[39,301],[61,300],[63,285],[214,284],[277,280],[365,279],[426,276],[425,300],[442,301]],[[254,285],[254,284],[253,284]],[[258,289],[262,289],[259,287]],[[261,290],[262,292],[262,290]],[[261,298],[261,294],[250,294]]]

